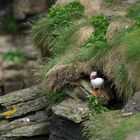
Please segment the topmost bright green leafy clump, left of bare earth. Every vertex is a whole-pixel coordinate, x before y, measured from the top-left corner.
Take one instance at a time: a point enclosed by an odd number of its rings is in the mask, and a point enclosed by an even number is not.
[[[69,24],[72,19],[79,18],[84,13],[84,6],[79,1],[72,1],[63,7],[54,5],[48,17],[53,19],[53,26],[56,28],[64,27]]]

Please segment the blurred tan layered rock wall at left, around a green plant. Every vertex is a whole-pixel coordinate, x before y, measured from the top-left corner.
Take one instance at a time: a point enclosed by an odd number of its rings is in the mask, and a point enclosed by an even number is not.
[[[25,62],[18,63],[9,58],[9,53],[20,52]],[[7,94],[32,86],[35,82],[33,70],[38,64],[39,53],[23,35],[0,35],[0,90]],[[20,56],[19,56],[20,57]],[[19,58],[20,59],[20,58]]]

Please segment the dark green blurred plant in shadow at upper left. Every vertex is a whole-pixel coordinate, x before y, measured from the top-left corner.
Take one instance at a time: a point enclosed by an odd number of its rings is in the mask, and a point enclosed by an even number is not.
[[[11,14],[6,14],[2,19],[2,27],[9,33],[16,33],[19,31],[21,24]]]

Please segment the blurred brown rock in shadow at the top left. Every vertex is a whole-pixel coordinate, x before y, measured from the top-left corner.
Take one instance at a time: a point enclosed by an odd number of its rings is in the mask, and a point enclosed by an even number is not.
[[[14,0],[14,17],[16,19],[25,19],[26,15],[33,15],[47,10],[46,0]]]

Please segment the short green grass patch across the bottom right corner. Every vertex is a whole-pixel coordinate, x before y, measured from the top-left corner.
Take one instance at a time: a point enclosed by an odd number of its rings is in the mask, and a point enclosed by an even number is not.
[[[128,134],[140,133],[140,113],[131,117],[118,117],[119,111],[90,116],[84,122],[84,132],[89,140],[124,140]]]

